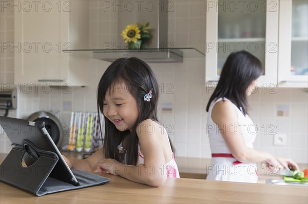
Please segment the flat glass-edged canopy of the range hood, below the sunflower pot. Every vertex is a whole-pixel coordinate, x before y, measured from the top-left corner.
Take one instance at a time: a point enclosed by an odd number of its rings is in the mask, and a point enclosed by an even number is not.
[[[114,61],[121,57],[138,57],[146,62],[183,62],[186,57],[205,57],[205,54],[195,48],[162,48],[162,49],[88,49],[63,50],[76,56]]]

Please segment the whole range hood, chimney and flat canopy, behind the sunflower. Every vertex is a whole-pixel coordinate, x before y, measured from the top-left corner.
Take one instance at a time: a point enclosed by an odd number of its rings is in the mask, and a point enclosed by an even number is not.
[[[88,50],[66,50],[75,55],[87,55],[88,57],[114,61],[121,57],[138,57],[146,62],[183,62],[183,57],[204,57],[205,55],[194,48],[176,48],[176,45],[168,41],[168,9],[162,9],[162,5],[167,6],[166,0],[145,0],[142,5],[133,11],[123,9],[118,12],[118,33],[130,24],[145,24],[149,22],[152,30],[151,38],[145,49],[129,50],[124,43],[122,36],[118,35],[118,42],[112,43],[117,49],[88,49]],[[145,7],[144,5],[149,5]]]

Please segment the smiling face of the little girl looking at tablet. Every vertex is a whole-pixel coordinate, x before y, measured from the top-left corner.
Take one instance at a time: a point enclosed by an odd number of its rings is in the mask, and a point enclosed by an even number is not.
[[[139,110],[136,99],[128,92],[125,83],[114,83],[110,86],[110,91],[107,91],[103,100],[103,114],[118,130],[132,130]]]

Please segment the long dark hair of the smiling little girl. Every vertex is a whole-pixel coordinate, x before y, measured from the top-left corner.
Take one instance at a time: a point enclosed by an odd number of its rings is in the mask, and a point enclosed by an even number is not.
[[[159,87],[155,75],[147,63],[136,57],[117,59],[108,66],[98,85],[97,104],[99,115],[100,111],[103,112],[103,100],[107,92],[111,92],[111,88],[116,83],[124,83],[126,85],[127,90],[125,91],[130,93],[137,101],[139,115],[136,124],[131,128],[131,132],[129,130],[118,130],[114,124],[104,116],[105,137],[103,148],[105,157],[114,158],[119,162],[123,162],[122,155],[119,154],[117,146],[125,137],[128,137],[126,164],[136,165],[139,142],[136,128],[140,122],[146,119],[158,122],[157,105]],[[149,102],[144,101],[144,95],[149,93],[150,90],[152,90],[152,98]],[[170,145],[172,151],[174,151],[171,141]]]

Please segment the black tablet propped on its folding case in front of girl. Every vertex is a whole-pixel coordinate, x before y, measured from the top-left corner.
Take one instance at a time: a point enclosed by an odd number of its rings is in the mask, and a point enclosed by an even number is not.
[[[79,186],[78,180],[66,164],[59,149],[57,149],[49,133],[41,122],[31,122],[22,119],[0,117],[1,131],[5,131],[7,137],[12,143],[12,146],[26,148],[23,160],[27,166],[31,166],[40,157],[40,153],[35,152],[29,147],[23,146],[23,141],[30,141],[37,149],[54,152],[59,161],[56,163],[50,176],[63,182]],[[3,132],[0,132],[3,134]]]

